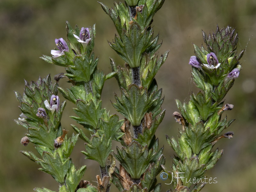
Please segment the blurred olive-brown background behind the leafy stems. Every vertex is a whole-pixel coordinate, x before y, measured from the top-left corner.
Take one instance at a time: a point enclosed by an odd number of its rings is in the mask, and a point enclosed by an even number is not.
[[[102,0],[109,7],[112,0]],[[66,37],[65,21],[74,27],[92,26],[96,23],[95,54],[100,56],[98,67],[105,73],[111,72],[109,57],[123,65],[117,54],[109,47],[107,40],[114,38],[115,28],[112,20],[101,9],[97,0],[1,0],[0,1],[0,191],[32,191],[35,187],[46,187],[58,190],[55,180],[48,174],[37,170],[38,165],[23,156],[20,150],[35,151],[32,145],[26,148],[20,139],[26,133],[13,119],[20,115],[19,103],[14,97],[14,90],[23,92],[24,81],[35,81],[39,76],[52,77],[63,68],[40,60],[42,54],[50,55],[55,48],[54,39]],[[234,131],[231,140],[222,139],[216,146],[224,148],[224,154],[217,165],[207,172],[208,177],[216,177],[217,184],[207,184],[202,191],[244,192],[256,188],[256,1],[255,0],[166,0],[162,9],[156,13],[153,21],[155,34],[160,33],[163,45],[159,54],[170,50],[165,64],[156,75],[159,88],[163,88],[166,115],[160,124],[156,136],[160,146],[164,145],[166,166],[172,163],[173,151],[167,144],[165,134],[177,138],[179,124],[175,123],[172,113],[177,110],[174,99],[188,100],[188,93],[197,92],[191,81],[190,56],[194,55],[192,42],[200,46],[203,42],[203,29],[206,33],[230,25],[239,34],[238,50],[246,48],[241,60],[243,69],[233,88],[226,96],[225,102],[234,104],[232,111],[225,112],[228,119],[237,119],[227,131]],[[65,80],[60,86],[68,87]],[[108,80],[103,88],[103,107],[115,113],[110,100],[114,93],[119,94],[115,78]],[[61,100],[63,98],[61,97]],[[73,115],[73,104],[64,110],[62,126],[73,130],[74,123],[69,116]],[[113,143],[113,149],[116,147]],[[98,164],[85,160],[80,153],[84,143],[79,140],[72,153],[72,160],[80,167],[87,165],[84,180],[96,184]],[[157,177],[162,183],[162,191],[170,186]],[[111,191],[116,191],[112,185]]]

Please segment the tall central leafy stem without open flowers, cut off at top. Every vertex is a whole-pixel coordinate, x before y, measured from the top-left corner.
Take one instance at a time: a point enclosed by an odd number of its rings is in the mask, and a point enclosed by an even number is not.
[[[161,110],[162,89],[158,90],[155,75],[168,52],[160,60],[154,57],[161,44],[157,44],[158,35],[154,37],[150,22],[163,3],[164,0],[125,0],[127,8],[115,3],[111,9],[100,3],[114,21],[119,35],[109,45],[125,62],[122,67],[111,60],[121,90],[121,96],[115,94],[116,103],[112,105],[125,117],[121,127],[122,148],[117,147],[115,154],[120,165],[111,175],[119,191],[160,192],[161,188],[156,184],[156,176],[165,158],[163,148],[158,149],[155,132],[165,110]]]

